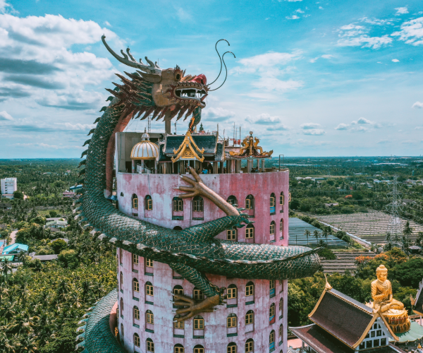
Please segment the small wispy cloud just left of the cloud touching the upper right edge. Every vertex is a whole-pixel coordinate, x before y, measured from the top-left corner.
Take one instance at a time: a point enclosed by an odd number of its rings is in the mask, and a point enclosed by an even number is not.
[[[388,35],[383,35],[381,37],[370,37],[367,35],[367,28],[364,28],[362,25],[355,25],[351,23],[350,25],[343,25],[338,30],[338,46],[340,47],[362,47],[362,48],[373,48],[379,49],[384,45],[390,44],[392,38]]]

